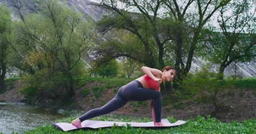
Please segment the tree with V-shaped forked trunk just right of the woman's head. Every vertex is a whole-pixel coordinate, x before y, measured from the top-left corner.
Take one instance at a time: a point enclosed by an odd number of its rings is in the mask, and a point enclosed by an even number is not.
[[[210,20],[213,14],[221,7],[226,6],[231,0],[187,0],[184,2],[178,2],[177,0],[165,0],[164,3],[169,9],[170,17],[174,18],[176,23],[180,26],[187,25],[190,27],[189,32],[184,31],[183,28],[175,33],[175,69],[176,69],[176,83],[181,82],[190,70],[192,59],[194,57],[197,44],[202,38],[201,32],[205,24]],[[191,6],[196,7],[196,11],[189,10]],[[189,12],[189,13],[187,13]],[[187,28],[186,28],[187,29]],[[171,30],[171,29],[170,29]],[[191,37],[188,44],[184,44],[184,34]],[[170,36],[173,36],[170,34]],[[187,52],[186,65],[182,57],[183,49],[189,45]]]

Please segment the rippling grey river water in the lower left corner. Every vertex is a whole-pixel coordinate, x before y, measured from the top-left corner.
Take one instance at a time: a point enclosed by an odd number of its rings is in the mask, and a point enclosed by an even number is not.
[[[56,119],[67,117],[60,109],[40,108],[25,103],[0,102],[0,132],[11,134],[35,129]]]

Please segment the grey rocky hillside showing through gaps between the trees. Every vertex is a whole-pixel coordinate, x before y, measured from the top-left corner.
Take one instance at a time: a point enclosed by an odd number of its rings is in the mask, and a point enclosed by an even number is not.
[[[9,7],[13,9],[13,5],[17,0],[0,0],[0,3],[7,3]],[[20,0],[23,9],[28,13],[39,13],[40,8],[38,7],[37,0]],[[92,18],[94,21],[99,21],[103,15],[107,15],[110,12],[102,7],[95,7],[92,5],[93,2],[89,0],[67,0],[67,5],[74,8],[77,12],[81,12],[85,15],[85,18]],[[15,15],[13,15],[14,17]],[[85,56],[84,61],[91,61],[89,55]],[[248,63],[240,63],[237,67],[237,74],[242,75],[243,77],[256,77],[256,60]],[[196,68],[201,69],[205,62],[200,58],[194,58],[190,72],[194,73]],[[89,64],[89,63],[87,63]],[[88,65],[89,66],[89,65]],[[213,72],[217,72],[218,68],[213,67]],[[234,74],[234,69],[232,66],[225,68],[224,75]]]

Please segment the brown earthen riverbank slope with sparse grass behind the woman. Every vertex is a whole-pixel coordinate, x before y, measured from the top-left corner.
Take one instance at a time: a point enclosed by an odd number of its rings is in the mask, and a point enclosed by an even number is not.
[[[115,96],[121,85],[125,84],[123,81],[118,83],[116,79],[113,79],[114,83],[109,82],[109,79],[108,81],[104,81],[104,79],[86,79],[85,81],[83,84],[76,85],[79,88],[75,90],[72,102],[61,108],[88,111],[101,107]],[[126,82],[129,82],[129,80]],[[10,86],[5,93],[0,94],[0,100],[25,101],[24,95],[19,92],[21,86],[21,80],[14,80],[13,86]],[[248,89],[242,86],[232,90],[227,89],[220,93],[218,99],[225,103],[218,113],[215,112],[212,104],[200,103],[194,100],[175,101],[171,98],[173,96],[162,94],[162,117],[173,116],[176,119],[190,119],[197,115],[211,115],[223,122],[254,119],[256,118],[256,89],[254,87]],[[150,118],[149,103],[149,101],[128,102],[123,108],[112,112],[112,114]],[[42,99],[38,105],[58,107],[58,103],[49,98]]]

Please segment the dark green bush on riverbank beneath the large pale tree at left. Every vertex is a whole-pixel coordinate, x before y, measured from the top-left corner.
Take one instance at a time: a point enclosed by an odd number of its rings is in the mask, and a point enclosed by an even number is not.
[[[21,93],[25,95],[29,103],[38,103],[42,98],[54,100],[65,97],[67,77],[59,71],[43,69],[32,76],[23,77],[25,82]]]

